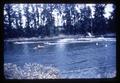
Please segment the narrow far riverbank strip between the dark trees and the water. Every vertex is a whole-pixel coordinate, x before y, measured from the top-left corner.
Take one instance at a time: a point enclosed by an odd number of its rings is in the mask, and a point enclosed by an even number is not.
[[[52,41],[58,39],[65,39],[65,38],[98,38],[98,37],[105,37],[105,38],[115,38],[115,34],[105,34],[105,35],[96,35],[96,36],[83,36],[83,35],[59,35],[53,37],[31,37],[31,38],[8,38],[4,41],[14,42],[14,41]]]

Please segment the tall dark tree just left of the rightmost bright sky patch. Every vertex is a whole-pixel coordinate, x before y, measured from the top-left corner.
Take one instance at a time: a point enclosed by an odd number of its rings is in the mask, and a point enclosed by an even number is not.
[[[93,21],[93,32],[96,35],[104,34],[106,28],[105,21],[105,5],[104,4],[96,4],[95,5],[95,13],[94,13],[94,21]]]

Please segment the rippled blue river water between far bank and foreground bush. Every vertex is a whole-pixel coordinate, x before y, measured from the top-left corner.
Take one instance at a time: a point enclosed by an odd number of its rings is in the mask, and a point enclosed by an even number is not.
[[[115,77],[116,41],[6,41],[4,63],[52,65],[60,70],[61,78]]]

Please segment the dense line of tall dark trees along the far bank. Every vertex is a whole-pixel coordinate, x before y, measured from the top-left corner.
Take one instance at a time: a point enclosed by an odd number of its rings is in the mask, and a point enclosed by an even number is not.
[[[21,7],[22,6],[22,7]],[[115,33],[115,6],[109,18],[105,18],[104,4],[94,6],[94,18],[91,8],[83,5],[76,10],[76,4],[5,4],[4,5],[4,36],[45,37],[65,35],[93,35]],[[55,25],[53,11],[62,17],[62,25]],[[23,19],[24,17],[24,19]],[[59,18],[57,18],[59,20]],[[24,22],[23,22],[24,21]]]

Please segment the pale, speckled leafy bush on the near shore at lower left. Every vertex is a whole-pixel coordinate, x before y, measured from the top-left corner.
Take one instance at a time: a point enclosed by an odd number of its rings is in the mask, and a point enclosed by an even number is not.
[[[37,63],[25,63],[23,67],[5,63],[4,76],[6,79],[56,79],[59,78],[59,71]]]

